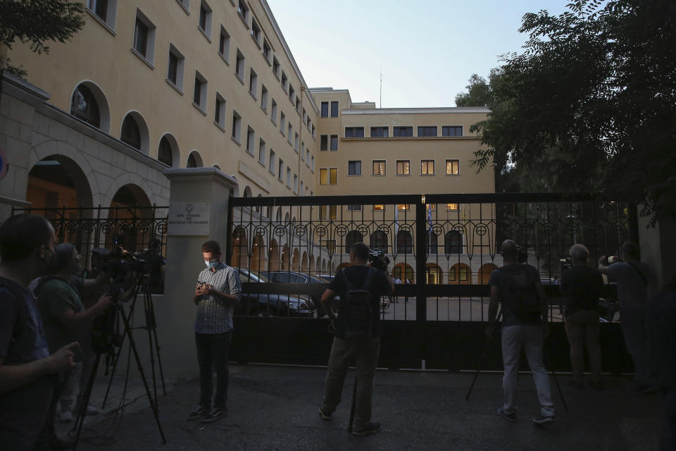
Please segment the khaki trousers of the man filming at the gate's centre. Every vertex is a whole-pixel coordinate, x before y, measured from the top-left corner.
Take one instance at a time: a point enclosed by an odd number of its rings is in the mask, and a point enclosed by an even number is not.
[[[334,338],[324,387],[324,412],[334,412],[340,404],[347,369],[356,359],[357,395],[354,428],[363,428],[371,420],[373,378],[380,354],[380,338]]]

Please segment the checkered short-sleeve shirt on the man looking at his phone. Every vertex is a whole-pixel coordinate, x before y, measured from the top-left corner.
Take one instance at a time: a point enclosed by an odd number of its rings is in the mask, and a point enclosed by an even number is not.
[[[198,283],[208,283],[213,289],[220,292],[230,293],[237,299],[242,299],[242,281],[239,273],[234,268],[221,262],[215,268],[215,272],[206,268],[199,276]],[[195,319],[195,332],[206,334],[226,333],[232,330],[232,314],[234,304],[226,302],[214,295],[202,295],[197,304],[197,317]]]

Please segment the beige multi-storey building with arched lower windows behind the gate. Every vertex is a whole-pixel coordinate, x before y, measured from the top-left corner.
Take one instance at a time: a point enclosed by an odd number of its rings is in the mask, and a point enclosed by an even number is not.
[[[311,89],[265,0],[83,1],[84,29],[48,55],[0,49],[27,70],[27,83],[6,78],[2,89],[0,147],[11,163],[2,217],[10,205],[166,205],[168,167],[219,168],[242,197],[494,192],[491,171],[470,166],[480,145],[470,126],[486,109],[377,109],[353,103],[347,89]],[[403,204],[396,215],[380,204],[294,208],[237,214],[249,223],[349,214],[396,228],[414,216]],[[479,207],[431,208],[451,230]],[[315,236],[320,251],[303,256],[307,237],[252,235],[245,228],[235,240],[243,266],[278,260],[277,268],[328,272],[346,260],[341,242]],[[442,261],[432,281],[471,283],[485,269],[465,261],[472,230],[461,235],[455,261]],[[405,274],[413,256],[402,240],[394,263]]]

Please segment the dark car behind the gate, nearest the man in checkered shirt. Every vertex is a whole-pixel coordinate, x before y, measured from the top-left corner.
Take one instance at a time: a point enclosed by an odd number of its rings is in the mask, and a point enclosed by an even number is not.
[[[261,274],[239,269],[242,283],[268,283]],[[242,301],[235,307],[234,314],[240,316],[314,316],[316,307],[306,296],[269,295],[248,293],[242,290]]]

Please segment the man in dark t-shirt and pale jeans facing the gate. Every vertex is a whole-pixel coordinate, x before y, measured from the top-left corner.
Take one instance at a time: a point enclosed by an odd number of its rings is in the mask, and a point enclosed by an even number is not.
[[[537,269],[529,264],[518,264],[518,247],[515,242],[503,241],[500,253],[505,264],[493,271],[488,281],[491,286],[491,302],[488,307],[489,326],[486,329],[487,337],[491,338],[496,327],[498,302],[501,302],[502,359],[505,374],[502,380],[503,405],[498,409],[498,415],[508,421],[517,420],[517,376],[519,355],[523,347],[540,402],[540,415],[533,422],[550,423],[554,421],[556,414],[551,402],[549,376],[542,357],[543,336],[549,335],[547,298]]]

